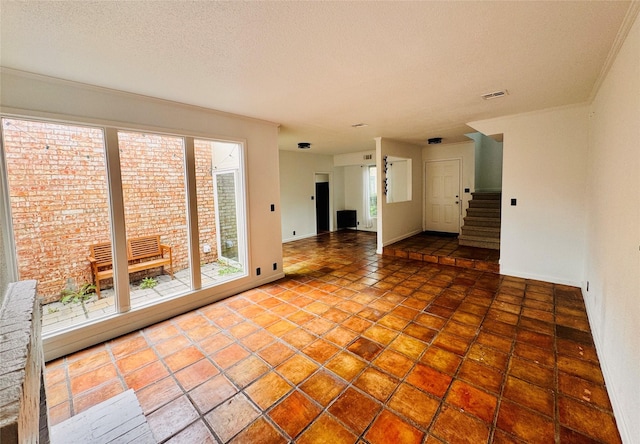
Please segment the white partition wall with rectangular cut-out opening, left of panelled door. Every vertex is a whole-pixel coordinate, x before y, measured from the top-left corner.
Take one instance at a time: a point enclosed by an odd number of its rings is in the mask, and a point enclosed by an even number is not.
[[[391,139],[376,139],[376,163],[384,156],[411,159],[412,196],[410,201],[387,203],[382,187],[384,172],[378,180],[378,253],[382,247],[422,232],[422,148]]]

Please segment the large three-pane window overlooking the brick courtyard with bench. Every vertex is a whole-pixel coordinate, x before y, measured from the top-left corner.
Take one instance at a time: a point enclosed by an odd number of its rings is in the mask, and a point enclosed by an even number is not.
[[[247,275],[241,143],[3,118],[2,148],[45,334]]]

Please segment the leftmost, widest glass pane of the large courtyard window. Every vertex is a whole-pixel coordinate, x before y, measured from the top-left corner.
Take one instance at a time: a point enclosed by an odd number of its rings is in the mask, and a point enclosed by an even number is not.
[[[98,271],[108,286],[111,222],[102,129],[2,119],[2,136],[18,274],[38,281],[43,332],[114,313],[113,291],[98,298],[88,259],[92,246],[106,243]]]

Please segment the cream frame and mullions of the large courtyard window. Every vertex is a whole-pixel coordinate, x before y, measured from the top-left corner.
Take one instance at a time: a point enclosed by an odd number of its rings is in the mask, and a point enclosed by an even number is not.
[[[112,339],[119,334],[132,331],[136,328],[143,328],[154,322],[165,320],[168,316],[173,316],[181,312],[193,310],[208,303],[216,302],[225,297],[237,294],[239,291],[250,288],[247,286],[247,279],[250,278],[248,270],[251,269],[250,254],[250,230],[248,220],[248,184],[247,184],[247,161],[246,150],[247,141],[243,138],[221,137],[216,134],[204,134],[198,131],[177,131],[167,128],[159,128],[148,125],[123,124],[105,119],[92,119],[74,116],[21,112],[2,112],[0,118],[32,120],[44,123],[54,123],[59,125],[89,126],[100,129],[104,134],[105,158],[107,168],[107,188],[109,198],[109,209],[111,212],[111,231],[114,255],[114,288],[116,290],[116,309],[113,314],[105,315],[99,319],[91,319],[82,324],[60,328],[52,332],[43,333],[43,343],[45,347],[45,358],[58,357],[77,351],[88,345]],[[0,129],[1,131],[1,129]],[[117,134],[119,131],[147,132],[183,139],[185,157],[185,199],[187,200],[187,230],[188,247],[190,250],[189,266],[192,273],[191,290],[186,294],[178,294],[174,297],[162,299],[156,303],[140,307],[131,307],[129,295],[129,279],[126,260],[126,234],[124,224],[124,200],[122,194],[122,181],[119,159],[119,145]],[[198,245],[198,224],[197,224],[197,204],[195,190],[195,160],[193,152],[193,141],[204,139],[211,141],[229,142],[237,144],[240,148],[240,174],[236,180],[240,183],[236,194],[241,196],[243,219],[239,221],[239,236],[242,232],[244,238],[243,254],[245,257],[244,273],[237,278],[221,282],[218,285],[201,288],[199,278],[199,251],[194,248]],[[3,243],[4,255],[7,262],[7,274],[11,281],[18,279],[17,257],[15,254],[15,240],[13,236],[13,224],[10,210],[9,188],[6,171],[6,155],[2,138],[0,137],[0,217],[3,222]],[[197,266],[195,266],[197,265]],[[193,274],[198,274],[194,278]],[[254,285],[252,285],[254,286]],[[118,333],[119,332],[119,333]]]

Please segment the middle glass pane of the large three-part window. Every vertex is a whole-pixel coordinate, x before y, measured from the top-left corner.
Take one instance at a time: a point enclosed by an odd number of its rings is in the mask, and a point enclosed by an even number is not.
[[[131,306],[191,289],[184,141],[118,132]]]

